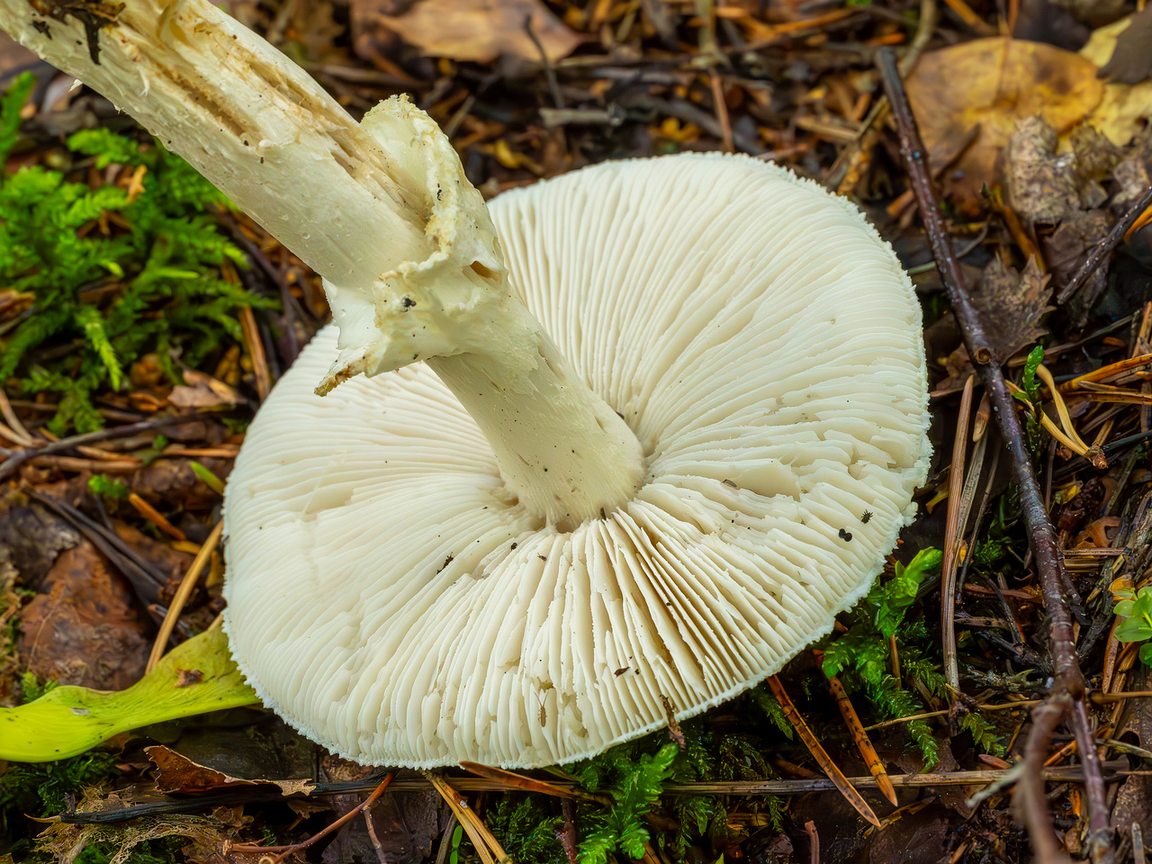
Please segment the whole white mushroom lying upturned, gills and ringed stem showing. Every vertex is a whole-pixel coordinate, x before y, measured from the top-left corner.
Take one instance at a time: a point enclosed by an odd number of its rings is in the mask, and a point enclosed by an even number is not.
[[[925,364],[850,204],[682,156],[506,195],[493,227],[426,115],[355,123],[205,0],[127,5],[99,63],[53,9],[0,25],[326,280],[335,327],[227,500],[234,654],[290,723],[366,763],[570,761],[751,687],[869,589],[924,478]]]

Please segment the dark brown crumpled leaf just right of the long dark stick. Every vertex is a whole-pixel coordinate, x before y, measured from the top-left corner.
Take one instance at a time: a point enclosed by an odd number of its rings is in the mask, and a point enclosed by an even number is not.
[[[984,268],[972,302],[983,313],[988,342],[1000,361],[1048,335],[1040,318],[1052,309],[1049,279],[1031,258],[1023,273],[1006,267],[999,258]]]

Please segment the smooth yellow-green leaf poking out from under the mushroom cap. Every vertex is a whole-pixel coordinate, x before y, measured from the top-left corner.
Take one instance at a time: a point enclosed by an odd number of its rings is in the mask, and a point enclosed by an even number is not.
[[[176,687],[181,669],[199,670],[203,677]],[[28,705],[0,708],[0,759],[65,759],[121,732],[257,702],[217,624],[177,645],[127,690],[58,687]]]

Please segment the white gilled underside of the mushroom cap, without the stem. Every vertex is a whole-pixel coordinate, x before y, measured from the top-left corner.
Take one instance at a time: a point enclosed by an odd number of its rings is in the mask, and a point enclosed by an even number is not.
[[[225,621],[265,704],[362,763],[569,763],[735,696],[869,590],[925,477],[920,309],[847,200],[683,154],[490,206],[646,482],[559,531],[423,363],[314,395],[318,333],[229,478]]]

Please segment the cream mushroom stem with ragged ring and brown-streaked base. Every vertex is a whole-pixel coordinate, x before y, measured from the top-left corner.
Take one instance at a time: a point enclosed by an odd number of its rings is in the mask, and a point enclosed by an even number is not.
[[[357,123],[206,0],[0,0],[0,26],[130,113],[324,276],[341,353],[318,392],[429,361],[533,515],[569,526],[635,493],[636,437],[515,297],[479,192],[406,98]]]

